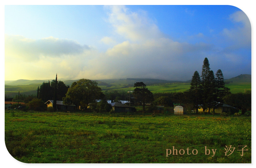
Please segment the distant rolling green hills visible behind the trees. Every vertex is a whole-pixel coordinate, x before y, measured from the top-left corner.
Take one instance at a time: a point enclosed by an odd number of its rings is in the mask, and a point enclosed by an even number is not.
[[[14,97],[20,91],[20,94],[30,95],[37,94],[37,88],[43,82],[48,80],[16,80],[7,82],[5,85],[5,96]],[[51,81],[51,80],[50,80]],[[62,80],[66,85],[71,85],[77,80]],[[120,90],[129,91],[134,89],[136,82],[143,82],[147,85],[147,88],[152,93],[163,93],[163,92],[184,92],[190,88],[190,81],[169,81],[169,80],[158,80],[158,79],[136,79],[127,78],[119,80],[94,80],[98,83],[98,86],[102,91],[107,90]],[[225,87],[231,89],[231,93],[245,92],[251,90],[251,75],[239,75],[234,78],[225,80]]]

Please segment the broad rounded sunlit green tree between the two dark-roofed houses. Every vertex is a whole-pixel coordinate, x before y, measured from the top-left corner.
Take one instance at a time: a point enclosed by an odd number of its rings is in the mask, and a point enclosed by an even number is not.
[[[104,98],[101,88],[98,83],[88,79],[80,79],[73,82],[71,87],[68,88],[66,97],[63,97],[64,104],[74,104],[77,107],[81,106],[82,109],[87,109],[89,103],[95,100]]]

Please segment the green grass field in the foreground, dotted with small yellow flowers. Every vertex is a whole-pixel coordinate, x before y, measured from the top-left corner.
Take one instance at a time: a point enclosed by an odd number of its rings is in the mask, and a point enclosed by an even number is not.
[[[251,118],[5,111],[5,142],[25,163],[251,163]]]

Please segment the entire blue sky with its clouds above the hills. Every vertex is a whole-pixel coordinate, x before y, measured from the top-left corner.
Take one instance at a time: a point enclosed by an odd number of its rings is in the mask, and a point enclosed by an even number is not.
[[[231,5],[5,5],[5,80],[191,80],[204,58],[251,74],[251,24]]]

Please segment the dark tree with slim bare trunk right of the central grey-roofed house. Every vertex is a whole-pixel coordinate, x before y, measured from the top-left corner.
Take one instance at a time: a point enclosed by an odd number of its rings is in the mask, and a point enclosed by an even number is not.
[[[146,103],[151,103],[154,100],[153,93],[146,88],[146,85],[143,82],[136,82],[134,84],[134,92],[133,95],[135,99],[142,103],[143,114],[145,113],[145,105]]]

